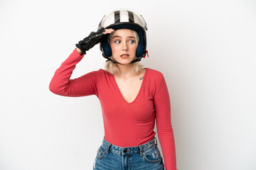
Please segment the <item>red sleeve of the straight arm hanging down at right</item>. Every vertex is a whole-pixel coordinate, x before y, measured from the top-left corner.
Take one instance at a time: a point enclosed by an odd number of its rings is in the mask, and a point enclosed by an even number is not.
[[[156,128],[164,156],[166,170],[176,170],[174,131],[171,126],[171,103],[164,76],[161,75],[159,88],[154,96],[156,108]]]

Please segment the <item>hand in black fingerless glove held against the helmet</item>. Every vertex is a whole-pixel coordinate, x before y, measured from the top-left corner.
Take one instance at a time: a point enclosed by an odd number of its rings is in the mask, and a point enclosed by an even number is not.
[[[95,32],[90,33],[90,35],[88,35],[87,38],[80,40],[80,42],[78,42],[78,44],[76,44],[75,46],[78,47],[78,49],[81,50],[83,54],[86,54],[86,51],[90,50],[92,47],[94,47],[97,43],[99,43],[102,40],[103,35],[107,33],[112,33],[113,31],[114,30],[112,28],[110,29],[102,28],[100,30],[97,30],[96,33]]]

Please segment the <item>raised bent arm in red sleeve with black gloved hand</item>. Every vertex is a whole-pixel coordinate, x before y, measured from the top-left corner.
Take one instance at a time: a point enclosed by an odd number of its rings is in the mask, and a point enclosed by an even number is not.
[[[87,38],[76,44],[77,48],[73,50],[70,56],[60,65],[55,71],[53,78],[50,81],[49,89],[54,94],[60,96],[88,96],[97,93],[96,84],[100,76],[100,72],[90,72],[77,79],[70,79],[75,65],[82,60],[85,52],[90,50],[106,33],[112,33],[112,29],[98,30],[92,32]]]

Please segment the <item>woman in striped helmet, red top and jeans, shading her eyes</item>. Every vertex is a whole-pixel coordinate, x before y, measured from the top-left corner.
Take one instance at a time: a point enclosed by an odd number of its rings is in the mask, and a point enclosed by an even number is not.
[[[105,136],[97,150],[95,170],[176,170],[169,92],[163,74],[143,68],[146,22],[142,16],[119,10],[102,18],[97,32],[81,40],[56,70],[50,91],[61,96],[100,99]],[[70,79],[87,50],[100,42],[104,69]],[[154,135],[154,123],[164,163]]]

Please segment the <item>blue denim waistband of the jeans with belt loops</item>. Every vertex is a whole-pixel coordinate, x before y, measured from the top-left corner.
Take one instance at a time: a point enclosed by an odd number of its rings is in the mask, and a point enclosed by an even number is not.
[[[143,152],[145,152],[148,149],[151,149],[151,147],[157,146],[157,140],[156,137],[154,137],[151,141],[147,142],[144,145],[139,145],[137,147],[118,147],[116,145],[112,145],[110,142],[107,142],[105,138],[103,138],[102,147],[106,149],[106,152],[113,152],[114,154],[140,154],[143,155]]]

